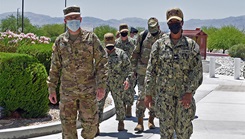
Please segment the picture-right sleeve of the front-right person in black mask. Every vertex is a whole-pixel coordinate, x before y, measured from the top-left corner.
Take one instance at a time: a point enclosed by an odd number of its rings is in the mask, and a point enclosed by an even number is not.
[[[186,92],[195,94],[197,88],[203,81],[202,58],[200,55],[199,45],[193,41],[192,43],[193,57],[190,61],[190,71],[188,72],[188,84]]]

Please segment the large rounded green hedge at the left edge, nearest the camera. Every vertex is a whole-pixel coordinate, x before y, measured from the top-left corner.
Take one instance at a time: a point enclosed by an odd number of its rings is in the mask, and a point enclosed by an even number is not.
[[[10,116],[35,118],[49,110],[47,72],[35,58],[27,54],[0,52],[0,106]]]

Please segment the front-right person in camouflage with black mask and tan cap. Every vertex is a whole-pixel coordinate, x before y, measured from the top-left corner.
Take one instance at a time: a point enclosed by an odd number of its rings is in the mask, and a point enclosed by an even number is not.
[[[179,8],[167,11],[170,34],[157,40],[150,53],[145,85],[145,105],[152,103],[155,94],[155,112],[159,118],[161,139],[189,139],[196,104],[193,98],[201,85],[202,59],[198,44],[182,36],[183,13]]]

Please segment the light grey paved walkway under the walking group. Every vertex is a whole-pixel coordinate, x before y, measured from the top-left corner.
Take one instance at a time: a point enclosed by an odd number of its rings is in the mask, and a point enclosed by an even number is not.
[[[191,139],[245,139],[245,80],[243,78],[235,80],[234,77],[222,75],[216,75],[216,78],[209,78],[208,73],[204,73],[203,84],[198,88],[195,99],[198,119],[193,122],[194,133]],[[143,133],[138,134],[133,130],[137,124],[134,105],[133,117],[125,120],[126,131],[117,131],[117,122],[115,115],[113,115],[101,123],[101,134],[96,139],[159,139],[158,120],[155,119],[157,128],[149,130],[147,128],[147,112],[145,113],[145,131]],[[111,116],[110,114],[113,113],[113,109],[110,108],[107,116]],[[32,139],[61,139],[61,133],[56,133],[58,130],[53,130],[59,128],[59,124],[53,128],[47,125],[45,129],[46,131],[52,131],[49,132],[51,135],[33,137]],[[25,132],[30,132],[29,135],[34,135],[34,133],[37,134],[39,132],[35,129],[38,128],[32,127]],[[81,139],[80,131],[81,129],[78,129],[79,139]],[[0,130],[0,139],[22,133],[24,132],[13,132],[11,129]]]

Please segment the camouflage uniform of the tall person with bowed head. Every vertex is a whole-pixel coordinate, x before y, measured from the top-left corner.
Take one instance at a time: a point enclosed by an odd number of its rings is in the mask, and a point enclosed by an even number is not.
[[[137,73],[137,84],[138,84],[138,100],[136,103],[136,117],[144,117],[145,113],[145,104],[144,104],[144,91],[145,91],[145,73],[146,73],[146,67],[148,64],[148,60],[150,57],[151,47],[152,44],[165,34],[159,30],[159,34],[157,36],[152,36],[150,32],[147,33],[147,36],[145,40],[143,40],[142,47],[140,46],[140,43],[138,43],[137,47],[133,51],[133,55],[131,57],[131,64],[133,71],[136,71]],[[138,42],[142,41],[142,36],[144,34],[144,31],[140,33]],[[151,90],[154,92],[153,90]],[[151,116],[154,116],[153,109],[150,109],[149,114]]]

